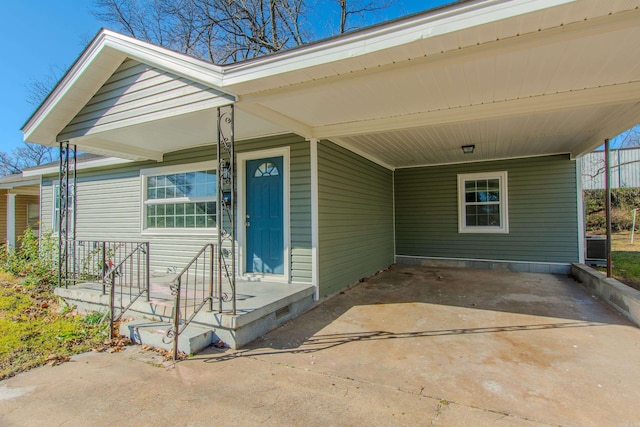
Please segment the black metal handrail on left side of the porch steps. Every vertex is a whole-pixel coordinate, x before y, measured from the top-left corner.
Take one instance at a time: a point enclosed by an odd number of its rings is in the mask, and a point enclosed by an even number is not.
[[[106,271],[102,276],[103,293],[105,284],[110,285],[109,330],[112,338],[114,337],[114,323],[122,318],[133,303],[143,294],[147,295],[147,301],[149,301],[149,259],[149,242],[139,242],[119,263],[114,264],[112,261],[105,263],[103,261],[103,265],[106,266]],[[119,302],[118,307],[116,307],[116,299]],[[125,300],[128,301],[126,306],[124,305]]]

